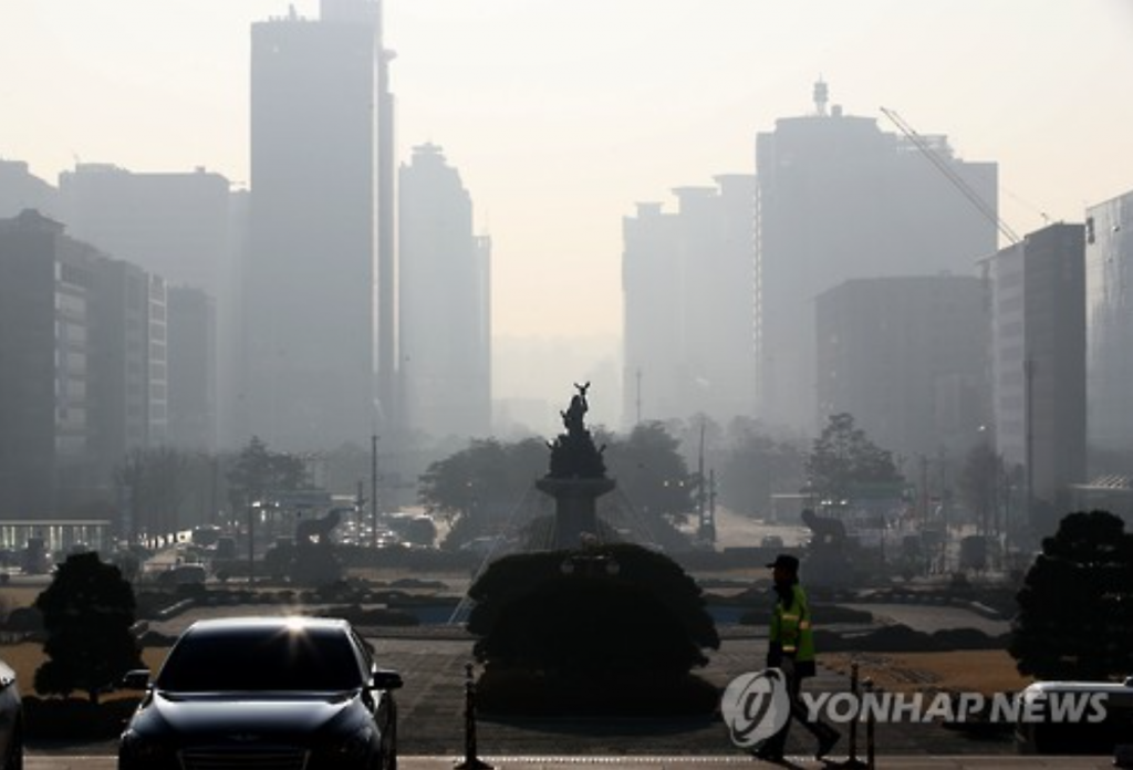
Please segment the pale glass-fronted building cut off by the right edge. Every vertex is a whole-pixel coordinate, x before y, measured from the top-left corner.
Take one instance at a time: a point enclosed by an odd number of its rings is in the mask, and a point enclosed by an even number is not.
[[[1097,472],[1133,472],[1133,191],[1085,213],[1088,440]],[[1106,457],[1108,455],[1108,459]]]

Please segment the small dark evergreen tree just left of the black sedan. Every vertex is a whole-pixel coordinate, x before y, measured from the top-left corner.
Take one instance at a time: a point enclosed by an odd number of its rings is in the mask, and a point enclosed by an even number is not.
[[[84,691],[97,703],[100,692],[143,666],[130,631],[134,589],[96,553],[70,556],[35,607],[43,614],[43,652],[49,658],[35,671],[39,692],[66,696]]]

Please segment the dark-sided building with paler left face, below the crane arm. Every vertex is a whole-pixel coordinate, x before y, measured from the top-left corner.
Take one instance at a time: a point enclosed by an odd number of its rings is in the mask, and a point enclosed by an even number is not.
[[[1026,471],[1033,533],[1085,481],[1085,268],[1081,224],[1029,233],[987,260],[996,450]]]

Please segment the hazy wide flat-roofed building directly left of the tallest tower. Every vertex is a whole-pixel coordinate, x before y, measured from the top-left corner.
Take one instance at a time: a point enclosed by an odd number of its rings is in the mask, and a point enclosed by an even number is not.
[[[145,272],[161,275],[171,285],[193,288],[211,299],[216,318],[212,357],[194,361],[195,376],[206,380],[213,402],[207,414],[182,416],[211,426],[181,435],[171,426],[170,444],[194,450],[215,448],[216,399],[225,414],[236,410],[237,368],[241,336],[239,323],[240,242],[232,215],[230,182],[218,173],[197,169],[188,173],[135,173],[109,164],[83,163],[59,176],[59,194],[68,232],[100,250]],[[171,326],[172,333],[172,326]],[[173,363],[171,354],[170,362]],[[203,399],[197,400],[203,403]],[[232,420],[225,420],[231,426]],[[238,443],[230,431],[227,446]]]

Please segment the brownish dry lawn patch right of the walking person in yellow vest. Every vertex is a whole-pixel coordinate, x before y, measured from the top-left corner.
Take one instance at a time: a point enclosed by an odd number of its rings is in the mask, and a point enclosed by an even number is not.
[[[1017,692],[1033,679],[1015,669],[1015,659],[1005,650],[957,652],[838,652],[820,656],[827,668],[850,674],[858,662],[858,676],[874,681],[889,692]]]

